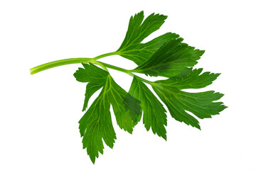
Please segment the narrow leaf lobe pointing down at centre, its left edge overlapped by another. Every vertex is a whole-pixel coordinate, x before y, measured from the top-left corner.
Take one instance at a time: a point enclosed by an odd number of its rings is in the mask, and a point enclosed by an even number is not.
[[[164,127],[164,125],[167,125],[166,110],[156,96],[154,96],[149,88],[141,80],[137,79],[136,76],[134,76],[132,81],[129,94],[142,102],[143,123],[146,130],[151,128],[154,134],[166,140],[166,129]]]

